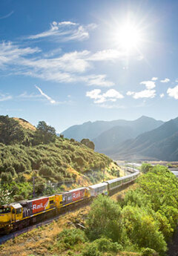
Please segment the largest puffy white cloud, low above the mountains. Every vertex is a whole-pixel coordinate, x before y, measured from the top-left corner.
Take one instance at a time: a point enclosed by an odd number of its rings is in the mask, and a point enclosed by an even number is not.
[[[117,99],[122,99],[124,96],[114,89],[110,89],[105,93],[101,93],[100,89],[94,89],[92,91],[87,91],[86,96],[90,99],[94,99],[94,103],[103,103],[103,102],[116,102]]]

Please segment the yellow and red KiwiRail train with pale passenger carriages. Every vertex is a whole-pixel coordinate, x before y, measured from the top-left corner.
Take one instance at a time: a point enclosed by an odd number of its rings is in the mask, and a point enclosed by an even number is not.
[[[136,170],[136,172],[128,176],[106,180],[88,187],[2,205],[0,206],[0,234],[7,234],[23,229],[33,223],[38,223],[67,211],[72,206],[89,201],[99,194],[111,195],[119,187],[136,180],[138,176],[139,171]]]

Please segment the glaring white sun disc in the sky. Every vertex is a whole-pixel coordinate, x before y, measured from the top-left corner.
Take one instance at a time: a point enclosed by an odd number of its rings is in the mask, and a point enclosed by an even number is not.
[[[131,52],[138,48],[142,42],[142,34],[139,27],[130,22],[120,25],[114,32],[113,38],[115,43],[126,52]]]

